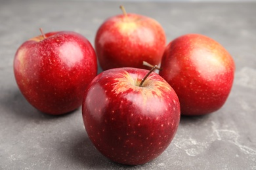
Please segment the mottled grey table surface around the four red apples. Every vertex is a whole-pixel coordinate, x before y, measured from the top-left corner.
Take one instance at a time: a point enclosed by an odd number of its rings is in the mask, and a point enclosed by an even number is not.
[[[158,20],[168,42],[201,33],[223,44],[236,62],[225,105],[206,116],[182,116],[167,150],[144,165],[119,165],[102,156],[85,132],[81,108],[49,116],[24,99],[12,71],[22,42],[43,27],[76,31],[94,44],[97,28],[121,13],[119,5],[0,1],[0,169],[256,169],[256,3],[122,2],[127,12]]]

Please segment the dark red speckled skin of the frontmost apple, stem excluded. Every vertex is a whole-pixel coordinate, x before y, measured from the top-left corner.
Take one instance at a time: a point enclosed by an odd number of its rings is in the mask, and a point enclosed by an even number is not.
[[[107,158],[139,165],[158,157],[171,143],[181,115],[179,99],[169,84],[148,70],[103,71],[89,84],[82,104],[85,129]]]

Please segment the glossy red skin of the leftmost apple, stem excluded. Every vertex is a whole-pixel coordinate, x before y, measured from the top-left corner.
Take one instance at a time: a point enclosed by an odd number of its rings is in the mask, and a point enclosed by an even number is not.
[[[64,114],[81,106],[97,74],[95,50],[82,35],[58,31],[24,42],[14,57],[18,88],[41,112]]]

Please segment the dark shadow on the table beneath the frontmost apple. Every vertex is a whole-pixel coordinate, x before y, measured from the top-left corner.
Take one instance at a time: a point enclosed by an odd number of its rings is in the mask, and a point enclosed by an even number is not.
[[[59,154],[68,157],[68,160],[75,163],[78,167],[86,169],[106,169],[106,167],[115,167],[117,169],[131,168],[134,166],[115,163],[103,156],[91,143],[87,133],[75,135],[71,146],[61,149]]]

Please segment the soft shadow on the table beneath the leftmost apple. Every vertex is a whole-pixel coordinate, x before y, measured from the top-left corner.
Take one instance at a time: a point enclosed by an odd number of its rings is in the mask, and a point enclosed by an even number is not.
[[[51,115],[41,112],[30,105],[30,103],[26,101],[25,97],[18,89],[12,90],[11,93],[9,93],[9,95],[7,95],[5,98],[1,98],[0,105],[0,107],[4,109],[7,114],[14,114],[15,118],[19,119],[49,120],[70,114]]]

